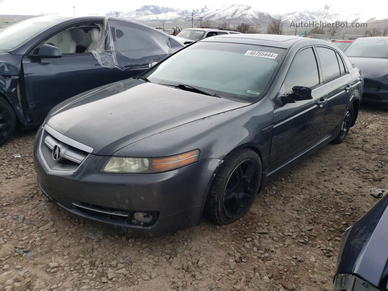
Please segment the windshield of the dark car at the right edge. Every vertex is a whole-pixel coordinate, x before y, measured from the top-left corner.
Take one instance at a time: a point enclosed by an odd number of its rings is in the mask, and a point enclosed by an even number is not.
[[[377,57],[388,59],[388,38],[387,40],[358,39],[352,42],[345,50],[348,57]]]

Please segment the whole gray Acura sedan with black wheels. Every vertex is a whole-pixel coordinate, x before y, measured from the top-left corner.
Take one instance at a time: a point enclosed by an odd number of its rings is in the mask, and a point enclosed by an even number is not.
[[[129,235],[244,216],[268,178],[342,142],[360,69],[322,40],[214,36],[54,107],[36,135],[42,191]]]

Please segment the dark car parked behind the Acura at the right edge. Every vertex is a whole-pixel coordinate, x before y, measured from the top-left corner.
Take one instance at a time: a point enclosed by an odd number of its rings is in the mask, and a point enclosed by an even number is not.
[[[388,105],[388,36],[357,38],[344,53],[364,74],[362,101]]]

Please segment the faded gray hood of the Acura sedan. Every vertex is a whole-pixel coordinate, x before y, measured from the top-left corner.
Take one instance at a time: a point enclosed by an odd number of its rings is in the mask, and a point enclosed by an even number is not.
[[[92,147],[93,154],[110,156],[156,133],[247,105],[130,79],[61,104],[47,124]]]

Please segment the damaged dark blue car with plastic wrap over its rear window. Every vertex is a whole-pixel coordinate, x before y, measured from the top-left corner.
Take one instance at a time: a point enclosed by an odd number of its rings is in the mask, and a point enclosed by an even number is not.
[[[102,16],[42,16],[0,30],[0,145],[17,123],[37,126],[63,100],[136,76],[181,47],[157,29]]]

